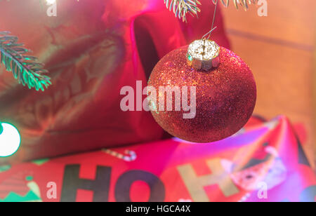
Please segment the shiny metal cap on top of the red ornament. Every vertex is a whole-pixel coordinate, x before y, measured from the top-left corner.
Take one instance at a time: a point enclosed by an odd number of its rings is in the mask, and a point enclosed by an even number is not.
[[[220,46],[215,41],[193,41],[187,48],[187,64],[197,70],[209,71],[218,67]]]

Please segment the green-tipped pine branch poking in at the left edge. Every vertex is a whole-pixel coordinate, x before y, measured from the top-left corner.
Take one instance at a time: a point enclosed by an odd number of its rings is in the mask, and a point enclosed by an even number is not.
[[[17,43],[17,36],[8,34],[10,32],[0,32],[1,63],[23,86],[44,91],[51,85],[51,78],[45,75],[48,71],[44,69],[44,64],[37,62],[34,56],[25,55],[30,50],[23,43]]]

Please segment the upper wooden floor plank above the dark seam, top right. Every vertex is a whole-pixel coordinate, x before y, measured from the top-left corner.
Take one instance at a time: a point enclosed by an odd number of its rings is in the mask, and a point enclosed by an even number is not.
[[[233,4],[223,8],[228,30],[237,30],[279,41],[299,43],[313,47],[315,44],[315,0],[268,0],[268,16],[259,17],[258,6],[251,5],[249,11],[237,9]]]

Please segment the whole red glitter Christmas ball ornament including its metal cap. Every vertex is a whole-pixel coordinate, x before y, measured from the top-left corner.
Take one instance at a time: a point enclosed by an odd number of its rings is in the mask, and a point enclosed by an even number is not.
[[[251,69],[231,50],[208,39],[165,55],[148,86],[153,87],[147,98],[154,119],[189,142],[214,142],[237,133],[256,104]]]

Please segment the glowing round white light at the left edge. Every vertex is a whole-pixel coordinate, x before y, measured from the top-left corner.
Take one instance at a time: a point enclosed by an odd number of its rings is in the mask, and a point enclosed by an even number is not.
[[[1,126],[3,131],[0,134],[0,157],[11,156],[20,147],[20,133],[11,124],[1,123]]]

